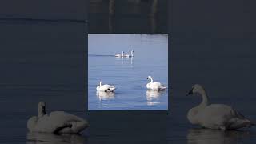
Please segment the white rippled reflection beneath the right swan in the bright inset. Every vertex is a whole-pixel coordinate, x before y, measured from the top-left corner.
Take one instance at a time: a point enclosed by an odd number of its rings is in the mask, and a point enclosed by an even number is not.
[[[158,99],[160,95],[163,93],[163,91],[157,91],[157,90],[146,90],[146,103],[148,106],[157,105],[160,102],[158,102]]]

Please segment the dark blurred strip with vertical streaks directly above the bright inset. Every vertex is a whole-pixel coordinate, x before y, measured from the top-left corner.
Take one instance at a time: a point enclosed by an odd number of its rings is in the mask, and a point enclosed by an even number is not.
[[[167,0],[89,0],[89,33],[166,33],[167,2]]]

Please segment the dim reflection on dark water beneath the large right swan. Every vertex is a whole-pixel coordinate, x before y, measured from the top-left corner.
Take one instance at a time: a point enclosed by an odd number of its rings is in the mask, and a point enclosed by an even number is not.
[[[190,129],[187,134],[188,144],[233,144],[240,143],[242,138],[249,137],[248,131],[242,130],[212,130],[212,129]]]

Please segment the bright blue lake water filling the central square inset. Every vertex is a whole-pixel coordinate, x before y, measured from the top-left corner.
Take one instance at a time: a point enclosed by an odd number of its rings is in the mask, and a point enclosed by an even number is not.
[[[89,34],[88,45],[88,110],[168,110],[168,90],[146,90],[149,75],[168,86],[166,34]],[[117,90],[97,94],[100,81]]]

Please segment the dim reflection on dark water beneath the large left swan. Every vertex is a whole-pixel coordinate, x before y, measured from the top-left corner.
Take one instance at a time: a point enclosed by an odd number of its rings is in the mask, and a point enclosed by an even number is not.
[[[27,133],[27,144],[84,144],[87,138],[80,134]]]

